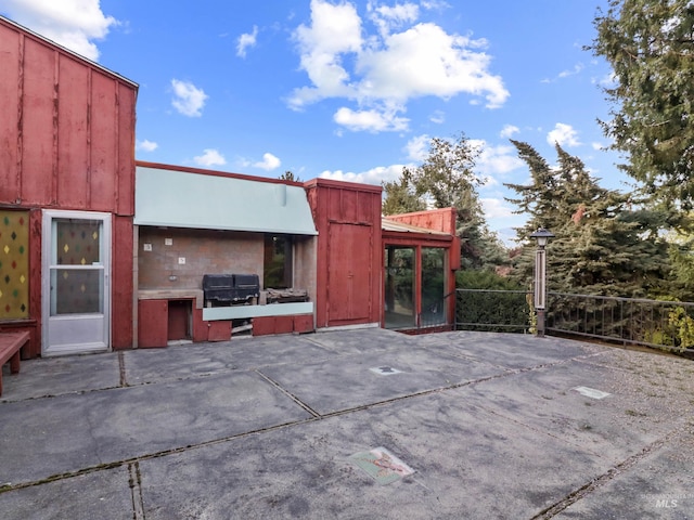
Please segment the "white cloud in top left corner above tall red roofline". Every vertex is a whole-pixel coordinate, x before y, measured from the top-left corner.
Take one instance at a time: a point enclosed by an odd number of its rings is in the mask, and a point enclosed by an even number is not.
[[[3,0],[1,6],[15,22],[93,61],[99,60],[93,40],[118,25],[101,11],[99,0]]]

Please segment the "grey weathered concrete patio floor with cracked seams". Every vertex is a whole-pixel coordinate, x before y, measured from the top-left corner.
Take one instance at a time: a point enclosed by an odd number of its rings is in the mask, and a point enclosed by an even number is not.
[[[369,328],[3,370],[3,519],[694,519],[684,359]]]

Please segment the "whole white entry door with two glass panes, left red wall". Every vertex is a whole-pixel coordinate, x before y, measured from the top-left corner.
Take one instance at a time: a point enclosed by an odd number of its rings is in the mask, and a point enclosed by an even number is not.
[[[111,214],[43,211],[43,355],[110,348]]]

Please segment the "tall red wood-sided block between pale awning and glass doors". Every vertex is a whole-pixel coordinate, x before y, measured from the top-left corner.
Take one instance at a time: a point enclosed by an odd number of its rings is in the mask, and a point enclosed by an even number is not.
[[[326,179],[305,186],[319,233],[316,326],[378,323],[381,186]]]

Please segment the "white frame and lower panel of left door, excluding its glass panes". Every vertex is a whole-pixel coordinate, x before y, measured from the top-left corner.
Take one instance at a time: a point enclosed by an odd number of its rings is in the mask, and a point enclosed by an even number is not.
[[[100,222],[99,263],[91,265],[59,264],[54,222],[61,219],[89,220]],[[66,355],[111,350],[111,213],[97,211],[43,210],[41,232],[41,355]],[[51,284],[53,272],[57,270],[86,270],[101,273],[102,312],[65,313],[51,315],[54,306]],[[65,338],[74,339],[70,341]]]

